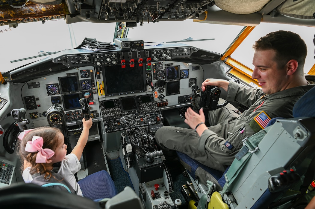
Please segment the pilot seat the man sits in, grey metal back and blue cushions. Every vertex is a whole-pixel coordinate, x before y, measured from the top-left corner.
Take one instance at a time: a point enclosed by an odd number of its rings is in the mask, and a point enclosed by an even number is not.
[[[294,118],[274,118],[268,127],[243,141],[224,173],[177,152],[191,179],[191,185],[182,186],[189,208],[294,206],[314,179],[314,107],[312,88],[296,102]]]

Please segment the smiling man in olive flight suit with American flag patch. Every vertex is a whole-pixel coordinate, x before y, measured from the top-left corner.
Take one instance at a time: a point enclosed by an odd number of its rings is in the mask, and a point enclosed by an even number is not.
[[[304,75],[307,54],[301,37],[289,31],[276,31],[255,42],[253,79],[261,88],[250,88],[233,81],[206,79],[205,86],[218,86],[227,91],[227,101],[249,107],[242,114],[231,104],[209,111],[207,127],[203,110],[199,114],[190,107],[185,123],[192,129],[163,126],[155,138],[164,151],[176,150],[202,164],[225,171],[242,140],[264,129],[271,118],[293,118],[294,104],[315,86],[315,76]]]

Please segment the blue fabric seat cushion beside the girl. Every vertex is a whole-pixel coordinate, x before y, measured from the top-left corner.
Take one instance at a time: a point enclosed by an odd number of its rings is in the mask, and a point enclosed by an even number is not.
[[[112,198],[117,195],[112,177],[104,170],[92,173],[78,181],[82,194],[91,200]]]

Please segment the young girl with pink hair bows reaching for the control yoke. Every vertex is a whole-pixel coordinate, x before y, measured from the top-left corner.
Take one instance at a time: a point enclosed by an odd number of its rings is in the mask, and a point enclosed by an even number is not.
[[[89,129],[92,126],[92,118],[82,120],[83,130],[77,141],[77,145],[69,155],[65,138],[59,129],[53,127],[40,127],[25,130],[19,135],[19,154],[24,161],[23,179],[26,183],[35,183],[35,178],[43,181],[54,179],[62,184],[71,185],[71,190],[82,196],[82,191],[75,179],[74,174],[81,169],[79,159],[85,147]],[[61,162],[60,168],[54,170],[54,163]],[[39,176],[39,177],[38,177]],[[34,179],[34,180],[33,180]],[[55,182],[55,181],[54,181]],[[69,183],[69,184],[67,184]]]

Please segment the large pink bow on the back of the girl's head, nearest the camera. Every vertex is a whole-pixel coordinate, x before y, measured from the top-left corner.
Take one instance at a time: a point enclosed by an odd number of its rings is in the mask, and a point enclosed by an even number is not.
[[[31,141],[28,141],[25,146],[25,151],[28,152],[36,152],[36,163],[44,163],[47,162],[47,159],[54,156],[55,152],[51,149],[45,148],[43,149],[44,140],[41,136],[33,136]]]

